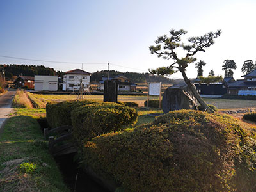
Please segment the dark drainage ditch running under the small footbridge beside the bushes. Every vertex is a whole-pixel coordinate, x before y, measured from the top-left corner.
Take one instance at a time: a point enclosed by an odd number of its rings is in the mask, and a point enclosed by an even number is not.
[[[48,127],[45,118],[39,119],[38,123],[41,126],[42,132],[44,127]],[[93,180],[82,168],[79,168],[79,164],[74,161],[74,156],[76,156],[76,153],[54,157],[63,175],[64,182],[70,191],[110,192],[104,186],[100,185],[99,182]]]

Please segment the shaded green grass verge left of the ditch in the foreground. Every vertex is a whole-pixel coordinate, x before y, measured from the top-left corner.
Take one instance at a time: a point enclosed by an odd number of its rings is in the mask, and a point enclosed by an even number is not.
[[[0,136],[0,191],[69,191],[29,110],[17,108]]]

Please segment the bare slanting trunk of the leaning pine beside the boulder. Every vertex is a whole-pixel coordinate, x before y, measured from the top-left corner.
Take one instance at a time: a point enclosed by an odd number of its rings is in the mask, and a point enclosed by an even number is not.
[[[196,91],[195,86],[193,86],[193,84],[191,83],[191,81],[188,79],[184,68],[180,67],[179,68],[180,72],[182,73],[182,76],[184,78],[185,83],[188,85],[189,90],[191,90],[191,92],[193,93],[194,97],[196,98],[196,100],[200,103],[200,105],[204,108],[205,111],[207,111],[208,113],[214,113],[213,109],[209,108],[209,106],[207,106],[207,104],[204,102],[204,100],[202,99],[202,97],[199,95],[199,93]]]

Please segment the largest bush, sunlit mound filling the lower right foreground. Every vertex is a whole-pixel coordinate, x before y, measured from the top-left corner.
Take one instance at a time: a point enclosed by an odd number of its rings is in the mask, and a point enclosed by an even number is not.
[[[181,110],[83,143],[81,156],[126,191],[256,191],[256,143],[228,115]]]

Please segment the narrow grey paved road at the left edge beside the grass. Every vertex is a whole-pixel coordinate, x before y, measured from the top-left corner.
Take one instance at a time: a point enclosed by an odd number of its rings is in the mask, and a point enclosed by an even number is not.
[[[12,97],[15,93],[15,91],[10,90],[0,96],[0,133],[3,131],[3,122],[6,120],[7,115],[12,112]]]

